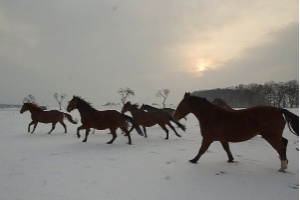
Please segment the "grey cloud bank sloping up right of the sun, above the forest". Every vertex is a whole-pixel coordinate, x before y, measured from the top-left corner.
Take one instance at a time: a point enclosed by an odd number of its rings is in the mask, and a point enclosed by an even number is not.
[[[267,36],[268,41],[244,50],[220,70],[206,73],[205,79],[222,79],[223,87],[298,79],[299,25],[289,24]]]

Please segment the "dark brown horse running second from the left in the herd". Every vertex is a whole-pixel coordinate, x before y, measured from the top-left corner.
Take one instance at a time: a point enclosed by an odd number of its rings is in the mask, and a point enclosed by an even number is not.
[[[90,128],[95,128],[98,130],[109,129],[112,134],[112,139],[107,142],[107,144],[112,144],[117,138],[116,130],[120,128],[125,133],[125,136],[128,137],[128,144],[132,144],[127,122],[130,122],[136,131],[140,135],[143,135],[141,129],[132,117],[121,114],[116,110],[98,111],[93,108],[90,103],[77,96],[73,96],[73,99],[68,104],[67,111],[71,112],[74,109],[78,109],[82,123],[82,125],[77,128],[78,138],[80,138],[79,131],[86,129],[85,138],[82,142],[87,141]]]

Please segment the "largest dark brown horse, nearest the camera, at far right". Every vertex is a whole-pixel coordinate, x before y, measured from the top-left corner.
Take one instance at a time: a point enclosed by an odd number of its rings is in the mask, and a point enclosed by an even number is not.
[[[181,119],[193,113],[200,124],[202,145],[196,163],[213,141],[220,141],[229,162],[233,161],[228,142],[243,142],[260,134],[278,152],[281,160],[279,171],[287,169],[286,148],[288,140],[282,137],[286,122],[292,133],[299,136],[299,117],[286,109],[257,106],[243,110],[226,110],[215,106],[204,98],[185,93],[179,103],[174,118]],[[284,116],[284,117],[283,117]]]

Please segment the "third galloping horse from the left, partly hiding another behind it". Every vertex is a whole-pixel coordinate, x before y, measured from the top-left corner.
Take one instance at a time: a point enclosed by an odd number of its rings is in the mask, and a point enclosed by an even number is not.
[[[174,122],[178,127],[185,131],[184,125],[175,121],[169,113],[162,110],[146,112],[139,109],[137,104],[131,104],[131,102],[128,101],[124,104],[121,112],[125,113],[127,111],[131,113],[133,119],[135,119],[137,124],[143,127],[145,137],[147,137],[146,127],[151,127],[156,124],[158,124],[166,132],[166,140],[169,139],[169,130],[166,128],[166,125],[168,125],[178,137],[181,137],[181,135],[179,135],[175,128],[172,126],[170,121]]]

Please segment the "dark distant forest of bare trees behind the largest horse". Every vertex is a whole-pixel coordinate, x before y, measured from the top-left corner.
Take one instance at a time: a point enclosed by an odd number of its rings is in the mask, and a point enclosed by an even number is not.
[[[263,85],[240,84],[229,88],[199,90],[193,92],[193,95],[207,98],[209,101],[220,98],[233,108],[249,108],[258,105],[298,108],[299,82],[291,80],[279,83],[270,81]]]

